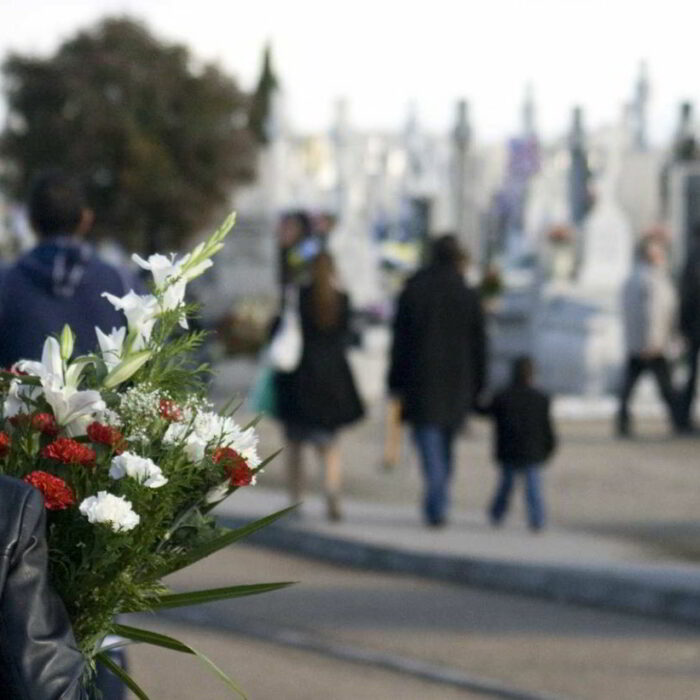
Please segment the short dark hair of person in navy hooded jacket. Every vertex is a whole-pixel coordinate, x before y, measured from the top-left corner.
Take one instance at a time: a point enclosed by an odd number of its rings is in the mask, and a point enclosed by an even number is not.
[[[27,206],[39,236],[69,236],[77,231],[87,201],[76,178],[52,169],[34,178]]]

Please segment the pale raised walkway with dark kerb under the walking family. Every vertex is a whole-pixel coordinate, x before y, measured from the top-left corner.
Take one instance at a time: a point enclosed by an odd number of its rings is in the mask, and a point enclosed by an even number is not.
[[[236,527],[287,505],[283,491],[257,486],[216,513]],[[298,514],[249,541],[335,564],[700,624],[700,566],[626,538],[493,529],[468,512],[435,530],[421,525],[414,507],[357,499],[346,499],[343,511],[341,522],[328,522],[323,501],[310,495]]]

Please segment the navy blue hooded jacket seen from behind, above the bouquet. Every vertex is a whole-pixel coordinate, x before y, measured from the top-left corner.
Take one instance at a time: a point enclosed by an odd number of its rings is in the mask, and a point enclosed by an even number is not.
[[[102,292],[121,297],[131,286],[89,244],[68,237],[42,241],[0,278],[0,367],[39,359],[46,337],[66,323],[76,335],[75,354],[93,352],[95,326],[109,333],[126,325]]]

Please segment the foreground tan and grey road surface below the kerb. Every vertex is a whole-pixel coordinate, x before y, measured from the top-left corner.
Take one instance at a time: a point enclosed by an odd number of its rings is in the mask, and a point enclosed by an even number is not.
[[[209,653],[251,700],[479,697],[371,665],[260,642],[241,631],[298,631],[429,662],[522,691],[560,698],[690,700],[700,692],[700,639],[679,625],[347,570],[235,546],[172,580],[178,588],[297,580],[284,591],[211,604],[182,620],[144,626]],[[204,626],[208,625],[209,629]],[[204,631],[206,629],[206,631]],[[224,698],[191,657],[131,652],[134,676],[154,699]]]

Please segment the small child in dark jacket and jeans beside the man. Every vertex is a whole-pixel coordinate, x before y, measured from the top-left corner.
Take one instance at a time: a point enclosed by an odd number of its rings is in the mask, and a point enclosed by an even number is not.
[[[532,360],[519,357],[513,363],[510,385],[494,397],[490,406],[501,479],[489,508],[489,518],[493,525],[500,525],[508,510],[516,476],[522,474],[528,524],[533,532],[538,532],[545,523],[540,468],[554,452],[556,436],[549,397],[532,386],[533,374]]]

